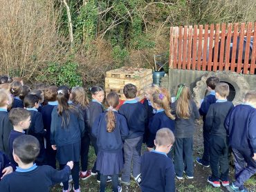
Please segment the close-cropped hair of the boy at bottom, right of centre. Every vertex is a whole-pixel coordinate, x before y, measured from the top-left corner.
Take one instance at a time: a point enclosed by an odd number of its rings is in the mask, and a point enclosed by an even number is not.
[[[167,146],[174,144],[174,133],[170,128],[161,128],[156,132],[155,142],[158,146]]]

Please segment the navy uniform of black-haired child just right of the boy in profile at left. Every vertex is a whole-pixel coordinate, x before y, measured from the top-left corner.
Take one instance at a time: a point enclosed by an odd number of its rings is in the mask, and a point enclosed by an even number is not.
[[[27,134],[33,135],[34,137],[36,137],[40,144],[40,152],[35,162],[38,165],[43,165],[45,163],[44,137],[46,136],[46,131],[44,131],[42,113],[39,113],[37,111],[37,108],[26,108],[26,109],[29,111],[30,119],[31,119]]]

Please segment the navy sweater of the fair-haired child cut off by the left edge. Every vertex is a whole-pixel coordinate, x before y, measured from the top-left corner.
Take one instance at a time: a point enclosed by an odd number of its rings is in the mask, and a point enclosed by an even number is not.
[[[10,123],[8,112],[5,108],[0,108],[0,151],[8,154],[8,140],[13,126]]]

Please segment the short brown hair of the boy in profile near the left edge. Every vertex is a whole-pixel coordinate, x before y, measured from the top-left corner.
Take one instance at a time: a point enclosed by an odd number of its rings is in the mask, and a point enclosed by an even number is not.
[[[25,121],[28,117],[30,117],[30,113],[25,108],[12,108],[9,113],[9,119],[13,126]]]

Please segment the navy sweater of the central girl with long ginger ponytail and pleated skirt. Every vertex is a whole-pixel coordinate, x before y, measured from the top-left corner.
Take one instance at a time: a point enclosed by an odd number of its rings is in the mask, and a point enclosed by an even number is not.
[[[122,140],[129,134],[127,121],[125,117],[113,112],[116,118],[116,126],[112,132],[107,132],[106,114],[101,113],[93,124],[92,134],[97,138],[97,146],[102,151],[118,151],[122,149]]]

